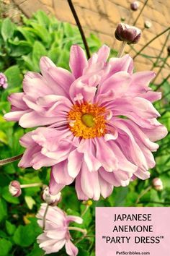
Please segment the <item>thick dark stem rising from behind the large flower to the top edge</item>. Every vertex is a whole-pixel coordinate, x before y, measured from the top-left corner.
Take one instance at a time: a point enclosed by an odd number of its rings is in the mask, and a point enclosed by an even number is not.
[[[85,37],[85,35],[84,35],[84,30],[83,30],[82,27],[81,27],[81,23],[80,23],[80,21],[79,21],[79,17],[78,17],[77,14],[76,14],[76,10],[75,10],[75,8],[73,7],[72,1],[71,1],[71,0],[68,0],[68,4],[69,4],[69,7],[70,7],[71,12],[72,12],[72,14],[73,14],[73,17],[74,17],[74,19],[75,19],[75,21],[76,21],[76,25],[79,27],[79,31],[80,31],[80,33],[81,33],[81,38],[82,38],[82,40],[83,40],[83,42],[84,42],[84,47],[85,47],[85,49],[86,49],[86,56],[87,56],[87,58],[89,59],[89,58],[90,58],[89,46],[88,46],[88,43],[87,43],[87,41],[86,41],[86,37]]]

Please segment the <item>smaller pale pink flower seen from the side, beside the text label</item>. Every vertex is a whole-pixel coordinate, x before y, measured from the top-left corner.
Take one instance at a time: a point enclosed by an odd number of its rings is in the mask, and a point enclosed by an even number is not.
[[[42,203],[37,218],[37,223],[40,227],[43,226],[43,216],[47,204]],[[81,224],[82,218],[78,216],[66,216],[57,206],[48,206],[48,213],[45,217],[45,230],[40,236],[37,237],[37,242],[40,248],[45,250],[45,254],[58,252],[64,245],[66,253],[71,256],[78,254],[77,247],[71,242],[71,234],[69,232],[69,223],[74,221]]]

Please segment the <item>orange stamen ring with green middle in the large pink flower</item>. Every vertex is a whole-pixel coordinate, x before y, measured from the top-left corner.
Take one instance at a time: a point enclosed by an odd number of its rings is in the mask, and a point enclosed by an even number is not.
[[[68,113],[69,128],[76,137],[102,137],[106,133],[105,116],[105,108],[97,104],[73,105]]]

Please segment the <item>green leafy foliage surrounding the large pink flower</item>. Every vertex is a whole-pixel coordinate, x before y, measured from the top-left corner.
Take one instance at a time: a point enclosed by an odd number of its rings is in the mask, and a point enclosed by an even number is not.
[[[23,17],[23,25],[14,25],[8,18],[0,20],[0,72],[4,72],[8,79],[9,87],[0,88],[0,158],[8,158],[23,152],[19,145],[19,138],[27,132],[14,122],[6,122],[4,113],[9,111],[8,95],[22,91],[24,74],[30,70],[40,72],[39,61],[41,56],[48,56],[59,67],[69,69],[69,51],[74,43],[84,48],[77,27],[65,22],[58,22],[55,17],[48,17],[44,12],[36,12],[32,19]],[[101,46],[100,40],[95,35],[87,38],[91,53]],[[112,50],[112,56],[117,51]],[[154,85],[153,85],[153,88]],[[161,112],[160,121],[170,130],[169,114],[169,82],[164,81],[162,89],[165,92],[163,101],[156,103],[156,108]],[[114,192],[106,200],[101,198],[84,213],[83,205],[76,197],[74,187],[65,187],[63,200],[59,207],[68,214],[80,216],[84,214],[84,223],[79,226],[87,229],[88,236],[81,240],[81,234],[72,232],[75,242],[79,242],[80,256],[94,256],[94,219],[95,208],[98,206],[169,206],[170,205],[170,139],[169,135],[159,142],[160,148],[155,153],[156,167],[151,170],[151,179],[146,182],[135,180],[128,187],[115,187]],[[22,195],[12,197],[8,192],[9,182],[14,179],[21,184],[42,182],[48,184],[50,168],[39,171],[32,168],[22,169],[17,163],[10,163],[0,169],[0,255],[43,255],[36,243],[36,237],[41,233],[34,218],[40,208],[40,187],[22,189]],[[150,189],[146,195],[137,200],[139,195],[151,185],[151,180],[160,176],[164,182],[164,190],[157,192]],[[29,217],[33,214],[33,217]],[[23,218],[24,217],[24,218]],[[64,249],[57,254],[66,255]]]

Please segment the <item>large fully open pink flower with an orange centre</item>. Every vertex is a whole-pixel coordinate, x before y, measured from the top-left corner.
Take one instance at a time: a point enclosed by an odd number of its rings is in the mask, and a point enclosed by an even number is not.
[[[24,93],[9,97],[7,120],[41,126],[21,138],[26,150],[19,166],[52,166],[52,194],[76,180],[79,200],[99,200],[134,177],[148,179],[155,166],[155,142],[167,134],[152,105],[161,93],[148,87],[155,73],[133,74],[130,56],[107,62],[108,56],[102,46],[87,61],[72,46],[71,72],[42,57],[42,75],[28,72]]]

